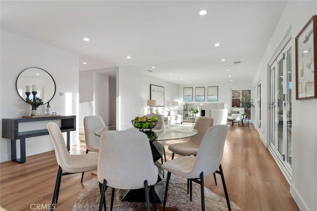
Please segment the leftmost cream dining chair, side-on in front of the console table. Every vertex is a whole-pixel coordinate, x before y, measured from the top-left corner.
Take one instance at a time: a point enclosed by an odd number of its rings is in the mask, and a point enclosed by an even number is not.
[[[58,200],[61,176],[97,169],[98,153],[81,155],[69,154],[64,137],[56,123],[51,122],[47,127],[53,142],[58,164],[57,178],[51,205],[51,211],[53,211],[55,208],[55,203],[57,203]]]

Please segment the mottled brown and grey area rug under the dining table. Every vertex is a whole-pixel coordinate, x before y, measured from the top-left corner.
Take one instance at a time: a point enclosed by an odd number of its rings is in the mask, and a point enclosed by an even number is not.
[[[166,175],[166,174],[165,174]],[[160,181],[165,185],[166,180]],[[99,209],[100,191],[97,178],[84,182],[85,188],[79,193],[73,211],[96,211]],[[115,190],[113,203],[114,211],[144,211],[145,203],[121,202],[125,190]],[[166,211],[197,211],[201,210],[200,185],[193,182],[193,201],[190,201],[187,194],[187,180],[176,175],[171,175],[168,185]],[[106,190],[106,208],[110,210],[111,188]],[[241,209],[230,202],[232,211]],[[158,210],[162,210],[162,204],[157,203]],[[206,211],[227,211],[225,198],[220,197],[205,188]],[[153,210],[153,204],[151,204]]]

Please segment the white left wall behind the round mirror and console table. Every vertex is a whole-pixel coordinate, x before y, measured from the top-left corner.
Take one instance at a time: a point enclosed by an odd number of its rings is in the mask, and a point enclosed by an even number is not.
[[[49,44],[1,30],[0,119],[21,117],[26,113],[30,113],[31,106],[20,98],[15,88],[17,76],[22,70],[29,67],[42,68],[48,71],[55,80],[56,94],[51,101],[54,111],[57,114],[65,114],[67,110],[71,111],[72,115],[76,115],[78,55]],[[60,96],[59,92],[68,94]],[[66,96],[72,96],[71,100],[66,99]],[[66,100],[69,101],[67,105],[65,104]],[[40,127],[46,128],[46,125],[43,122],[38,122],[23,127],[24,129],[34,127],[41,129]],[[31,139],[26,139],[27,156],[53,150],[52,141],[48,135]],[[71,132],[71,143],[75,144],[76,140],[76,131]],[[1,138],[0,147],[0,162],[11,160],[10,141]]]

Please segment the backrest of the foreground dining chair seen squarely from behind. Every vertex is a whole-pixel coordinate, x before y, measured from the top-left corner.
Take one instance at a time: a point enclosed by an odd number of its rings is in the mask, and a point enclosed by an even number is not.
[[[102,133],[98,180],[118,189],[139,189],[157,182],[150,142],[140,131],[108,130]]]

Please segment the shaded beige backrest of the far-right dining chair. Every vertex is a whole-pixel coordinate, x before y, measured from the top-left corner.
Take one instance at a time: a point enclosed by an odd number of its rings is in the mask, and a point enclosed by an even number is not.
[[[198,130],[198,134],[189,138],[188,141],[191,141],[197,145],[200,145],[202,142],[206,131],[213,126],[213,119],[211,117],[199,117],[196,120],[194,129]]]

